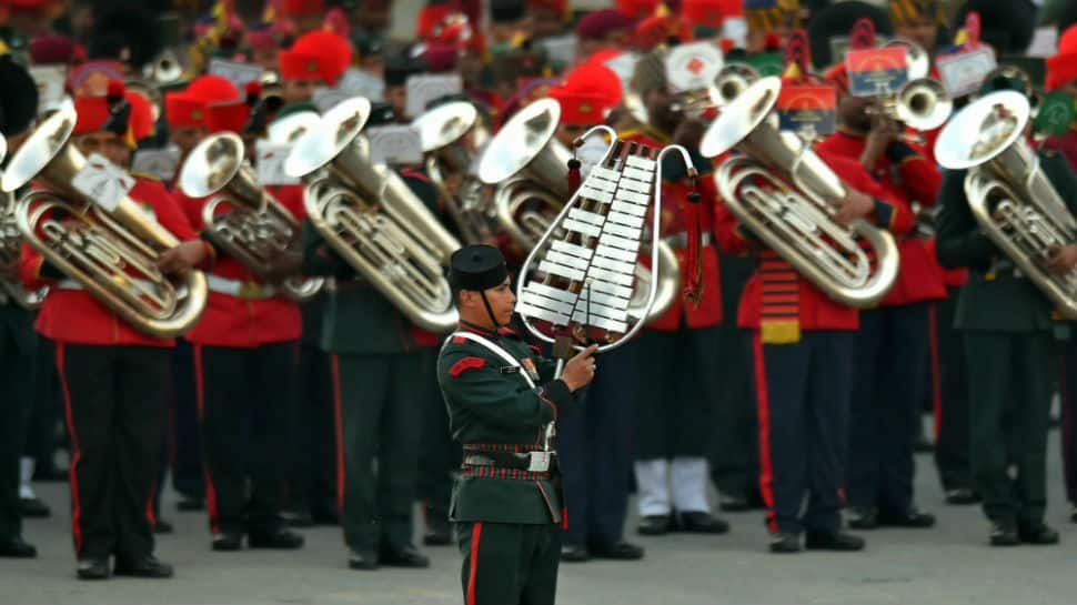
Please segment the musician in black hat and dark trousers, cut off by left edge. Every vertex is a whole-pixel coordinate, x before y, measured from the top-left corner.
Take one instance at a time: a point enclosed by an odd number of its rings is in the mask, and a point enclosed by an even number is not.
[[[19,148],[38,113],[38,87],[24,68],[10,54],[0,56],[0,134],[6,139],[8,157]],[[6,194],[0,193],[0,198]],[[0,266],[3,278],[20,283],[18,262]],[[0,423],[0,557],[34,557],[33,545],[22,538],[22,505],[19,497],[20,460],[30,402],[32,381],[27,375],[37,364],[32,314],[14,301],[0,304],[0,389],[3,389]],[[28,367],[29,365],[29,367]]]

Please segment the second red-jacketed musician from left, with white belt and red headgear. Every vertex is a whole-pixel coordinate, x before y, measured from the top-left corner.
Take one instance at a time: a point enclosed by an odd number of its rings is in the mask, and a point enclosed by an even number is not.
[[[245,104],[238,92],[231,100],[207,103],[207,125],[227,128],[229,118],[214,112],[234,117],[230,105],[235,104]],[[177,196],[195,230],[210,229],[202,214],[209,198]],[[298,220],[304,218],[301,195],[284,195],[280,202]],[[302,332],[299,304],[281,284],[298,272],[301,260],[285,252],[276,261],[270,274],[256,275],[221,254],[207,274],[205,314],[185,335],[194,350],[214,551],[240,549],[244,534],[252,548],[303,545],[281,517]]]

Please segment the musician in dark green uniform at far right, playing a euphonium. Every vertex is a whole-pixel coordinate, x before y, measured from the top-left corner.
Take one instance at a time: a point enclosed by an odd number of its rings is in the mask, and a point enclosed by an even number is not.
[[[1077,212],[1077,179],[1054,151],[1040,168]],[[1055,544],[1044,523],[1051,355],[1051,305],[984,234],[965,196],[966,171],[947,171],[939,190],[937,253],[943,266],[968,268],[955,326],[964,331],[969,376],[973,482],[992,521],[990,544]],[[1054,250],[1047,269],[1077,265],[1077,245]],[[1016,478],[1009,474],[1016,467]]]

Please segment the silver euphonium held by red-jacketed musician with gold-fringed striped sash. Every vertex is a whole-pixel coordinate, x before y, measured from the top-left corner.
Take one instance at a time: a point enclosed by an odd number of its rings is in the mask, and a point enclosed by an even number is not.
[[[729,211],[832,299],[870,306],[897,276],[894,238],[863,219],[849,226],[833,220],[832,201],[845,198],[845,185],[798,137],[775,128],[781,89],[774,77],[748,87],[707,129],[701,151],[739,150],[715,177]],[[857,238],[875,250],[874,271]]]

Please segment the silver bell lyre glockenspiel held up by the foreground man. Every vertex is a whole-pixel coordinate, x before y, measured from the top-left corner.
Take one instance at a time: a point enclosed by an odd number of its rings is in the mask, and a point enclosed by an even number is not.
[[[650,226],[656,233],[662,220],[662,160],[676,151],[690,177],[695,168],[680,145],[657,150],[630,143],[604,125],[587,131],[577,147],[600,133],[611,141],[606,153],[527,255],[516,311],[540,340],[554,342],[568,332],[576,349],[598,343],[598,351],[606,351],[643,327],[658,295],[660,242],[652,240],[650,254],[644,253],[652,268],[645,303],[633,307],[644,231]]]

